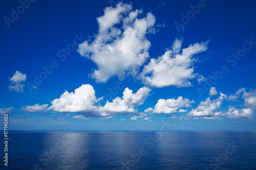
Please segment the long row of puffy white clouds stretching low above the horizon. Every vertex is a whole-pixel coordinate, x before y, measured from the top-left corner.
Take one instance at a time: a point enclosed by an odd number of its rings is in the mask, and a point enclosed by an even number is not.
[[[233,106],[228,107],[228,111],[223,111],[221,108],[223,101],[228,101],[232,98],[233,94],[228,97],[224,93],[220,93],[219,97],[215,100],[210,100],[212,93],[218,94],[215,87],[212,87],[209,92],[209,97],[199,103],[199,105],[194,108],[191,104],[195,101],[184,99],[179,96],[177,99],[159,99],[154,108],[147,108],[144,112],[139,112],[136,107],[143,105],[145,100],[148,98],[151,89],[149,87],[141,87],[137,92],[129,88],[125,88],[123,91],[123,96],[119,98],[118,96],[113,101],[107,101],[105,105],[101,106],[99,101],[102,98],[96,98],[95,90],[92,85],[83,84],[79,88],[75,89],[74,92],[65,91],[61,94],[60,98],[55,99],[51,102],[51,106],[48,104],[39,105],[35,104],[33,106],[22,107],[22,110],[28,112],[47,112],[53,111],[55,113],[78,113],[78,115],[73,116],[73,118],[79,119],[90,119],[92,117],[100,117],[102,119],[112,119],[116,115],[132,115],[131,120],[137,120],[146,117],[151,114],[174,114],[174,113],[185,113],[188,112],[187,109],[192,109],[186,114],[187,117],[184,119],[223,119],[223,118],[246,118],[253,119],[253,111],[256,110],[256,90],[250,90],[249,92],[243,91],[243,96],[241,99],[244,100],[244,106],[247,108],[237,109]],[[241,91],[238,90],[238,91]],[[232,98],[235,100],[234,98]],[[236,98],[238,99],[238,98]],[[176,116],[177,114],[175,114]],[[177,118],[175,116],[170,116],[170,118]],[[151,117],[150,117],[151,118]],[[145,118],[143,120],[146,120]],[[151,121],[152,119],[148,120]]]

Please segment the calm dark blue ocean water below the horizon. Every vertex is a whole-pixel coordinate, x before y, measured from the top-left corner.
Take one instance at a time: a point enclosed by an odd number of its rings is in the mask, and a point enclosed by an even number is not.
[[[8,168],[256,169],[256,131],[9,131]]]

